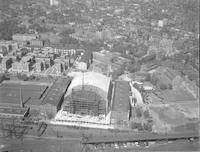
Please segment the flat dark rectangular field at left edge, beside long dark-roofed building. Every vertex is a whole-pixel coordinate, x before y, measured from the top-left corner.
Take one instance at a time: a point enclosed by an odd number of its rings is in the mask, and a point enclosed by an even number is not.
[[[49,85],[43,82],[3,81],[0,85],[0,104],[19,106],[22,99],[26,104],[39,105]]]

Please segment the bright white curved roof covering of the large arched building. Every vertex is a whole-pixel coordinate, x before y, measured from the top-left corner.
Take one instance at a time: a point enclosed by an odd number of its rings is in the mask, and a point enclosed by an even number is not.
[[[108,93],[111,79],[103,74],[97,72],[74,72],[71,73],[71,75],[74,78],[68,88],[67,94],[70,94],[73,88],[82,86],[83,83],[86,86],[94,86],[101,89],[106,94]]]

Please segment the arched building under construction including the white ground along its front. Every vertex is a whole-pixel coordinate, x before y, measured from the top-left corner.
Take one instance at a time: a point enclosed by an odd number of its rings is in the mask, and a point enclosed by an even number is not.
[[[73,79],[65,94],[62,108],[52,123],[86,123],[87,127],[90,124],[109,125],[112,96],[110,78],[95,72],[74,72],[71,75]]]

